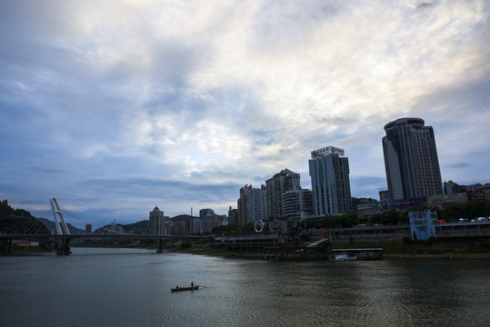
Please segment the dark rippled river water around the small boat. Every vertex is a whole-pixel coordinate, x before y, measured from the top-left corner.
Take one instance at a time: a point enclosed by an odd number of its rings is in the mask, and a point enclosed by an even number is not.
[[[0,257],[0,326],[490,326],[490,260]],[[195,292],[170,288],[203,285]]]

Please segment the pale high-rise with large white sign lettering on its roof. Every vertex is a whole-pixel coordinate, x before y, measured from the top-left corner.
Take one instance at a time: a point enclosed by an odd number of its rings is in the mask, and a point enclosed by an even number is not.
[[[315,216],[352,212],[349,159],[344,157],[344,149],[317,149],[308,163]]]

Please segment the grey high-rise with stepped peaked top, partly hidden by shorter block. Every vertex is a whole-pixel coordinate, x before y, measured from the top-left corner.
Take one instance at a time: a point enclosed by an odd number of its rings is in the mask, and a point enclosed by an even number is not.
[[[265,218],[269,221],[284,219],[283,194],[300,189],[299,173],[284,169],[265,181]]]

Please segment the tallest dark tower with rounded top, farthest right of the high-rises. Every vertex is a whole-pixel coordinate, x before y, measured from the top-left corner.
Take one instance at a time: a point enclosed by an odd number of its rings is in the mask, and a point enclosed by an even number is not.
[[[390,200],[443,194],[432,126],[421,118],[385,124],[383,154]]]

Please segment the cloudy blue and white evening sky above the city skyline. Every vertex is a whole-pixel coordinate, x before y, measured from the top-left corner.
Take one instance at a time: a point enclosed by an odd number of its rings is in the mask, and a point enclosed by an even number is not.
[[[385,124],[434,127],[443,181],[490,183],[488,1],[0,0],[0,199],[67,223],[225,214],[345,149],[386,187]],[[191,209],[192,208],[192,209]],[[47,217],[52,218],[52,217]]]

